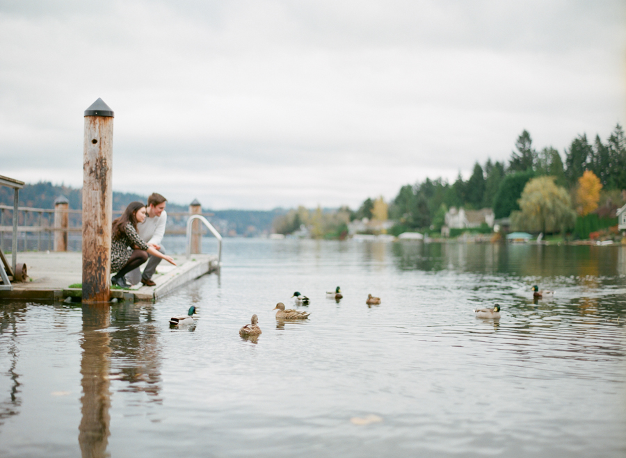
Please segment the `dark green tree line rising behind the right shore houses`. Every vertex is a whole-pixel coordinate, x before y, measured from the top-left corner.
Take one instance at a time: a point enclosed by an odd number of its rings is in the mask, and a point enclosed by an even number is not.
[[[564,161],[563,161],[564,157]],[[524,130],[517,137],[508,161],[488,159],[476,162],[472,175],[464,180],[460,172],[454,183],[429,179],[402,186],[389,205],[389,216],[399,223],[398,231],[435,229],[444,224],[451,206],[478,210],[492,208],[496,218],[508,218],[520,211],[518,200],[529,180],[554,177],[554,184],[575,195],[579,179],[590,171],[597,176],[604,192],[626,189],[626,140],[617,124],[606,141],[596,135],[590,142],[586,134],[577,136],[563,157],[554,147],[533,147],[531,135]],[[366,199],[355,218],[371,218],[371,198]]]

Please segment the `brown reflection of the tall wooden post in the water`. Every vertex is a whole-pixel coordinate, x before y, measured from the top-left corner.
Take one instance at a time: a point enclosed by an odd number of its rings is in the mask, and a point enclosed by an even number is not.
[[[109,364],[111,338],[107,329],[111,322],[108,306],[83,305],[83,340],[81,349],[81,424],[79,445],[83,457],[108,457],[106,446],[111,432],[111,391]]]

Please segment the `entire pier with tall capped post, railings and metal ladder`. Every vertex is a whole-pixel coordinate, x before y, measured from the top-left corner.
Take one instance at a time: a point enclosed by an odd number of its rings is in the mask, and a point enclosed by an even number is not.
[[[14,190],[13,207],[0,206],[0,299],[63,300],[106,306],[111,300],[154,301],[178,286],[219,272],[222,254],[222,236],[202,216],[198,200],[191,202],[186,222],[186,256],[174,256],[176,265],[159,265],[153,286],[139,284],[131,288],[111,287],[111,222],[113,221],[113,194],[111,190],[111,163],[113,160],[113,110],[97,99],[83,114],[83,188],[81,210],[70,210],[69,201],[59,196],[54,211],[45,208],[19,207],[19,190],[24,181],[0,176],[0,186]],[[4,213],[10,211],[12,227],[5,227]],[[22,212],[22,227],[19,226]],[[80,225],[70,229],[70,212],[77,213]],[[42,216],[54,213],[54,252],[42,252]],[[37,214],[35,220],[29,218]],[[31,224],[28,224],[28,222]],[[47,218],[45,220],[48,222]],[[218,254],[201,254],[201,224],[218,240]],[[11,236],[11,260],[4,255],[4,236]],[[21,230],[20,230],[21,229]],[[70,230],[81,232],[81,253],[67,252]],[[38,233],[38,252],[28,252],[26,234]],[[24,233],[24,252],[17,263],[18,233]],[[49,245],[49,244],[48,244]],[[192,257],[193,254],[193,257]],[[26,270],[29,265],[29,270]]]

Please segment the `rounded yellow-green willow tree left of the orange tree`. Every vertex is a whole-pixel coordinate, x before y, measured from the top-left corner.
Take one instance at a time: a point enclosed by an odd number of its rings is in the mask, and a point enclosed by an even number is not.
[[[539,232],[563,231],[572,227],[576,212],[572,210],[570,195],[561,186],[556,186],[554,177],[531,179],[517,199],[520,211],[511,213],[514,230]]]

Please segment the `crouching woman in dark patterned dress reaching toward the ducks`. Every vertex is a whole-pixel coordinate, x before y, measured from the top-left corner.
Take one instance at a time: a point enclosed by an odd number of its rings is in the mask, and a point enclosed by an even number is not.
[[[131,202],[120,218],[113,220],[111,231],[111,272],[117,272],[111,278],[111,284],[129,288],[125,275],[145,263],[148,254],[165,259],[176,265],[172,256],[167,256],[147,245],[137,233],[137,223],[145,220],[145,205]]]

